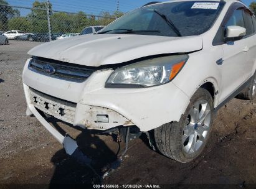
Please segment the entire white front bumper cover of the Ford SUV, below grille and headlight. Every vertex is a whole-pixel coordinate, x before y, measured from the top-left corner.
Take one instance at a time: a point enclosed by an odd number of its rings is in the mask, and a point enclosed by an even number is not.
[[[45,121],[35,113],[40,109],[33,102],[31,89],[47,96],[68,101],[75,104],[71,109],[72,119],[62,119],[59,108],[70,107],[66,104],[56,104],[55,100],[40,99],[42,103],[55,104],[57,109],[42,109],[47,114],[70,122],[73,126],[88,129],[107,130],[116,126],[136,125],[140,131],[146,132],[167,122],[179,121],[189,104],[189,98],[172,82],[152,88],[140,89],[109,89],[105,88],[105,81],[111,70],[96,71],[83,83],[51,78],[40,75],[27,68],[27,61],[23,72],[24,91],[29,110],[45,126]],[[35,108],[36,107],[36,108]],[[61,111],[61,110],[59,110]],[[105,116],[108,122],[98,121],[98,116]],[[47,128],[49,130],[49,128]]]

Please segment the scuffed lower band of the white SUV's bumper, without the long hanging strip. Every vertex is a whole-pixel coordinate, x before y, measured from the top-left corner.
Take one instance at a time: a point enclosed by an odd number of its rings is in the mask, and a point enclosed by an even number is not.
[[[27,114],[34,108],[54,118],[82,127],[83,129],[108,130],[117,126],[132,126],[133,122],[115,111],[97,106],[76,104],[41,93],[24,84],[28,106]],[[36,116],[37,117],[37,116]],[[38,118],[37,118],[38,119]]]

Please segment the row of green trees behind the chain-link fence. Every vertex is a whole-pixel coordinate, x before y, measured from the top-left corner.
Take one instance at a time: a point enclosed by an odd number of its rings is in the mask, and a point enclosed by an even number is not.
[[[7,4],[6,1],[0,0],[0,4]],[[49,5],[50,25],[52,33],[80,33],[85,27],[91,25],[108,25],[114,21],[117,12],[101,12],[100,16],[88,16],[85,12],[77,14],[68,14],[65,12],[52,11],[52,5]],[[122,16],[118,12],[118,17]],[[4,24],[1,24],[4,23]],[[12,7],[0,6],[0,30],[22,30],[27,33],[48,32],[47,22],[47,4],[46,1],[35,1],[32,9],[25,17],[19,16],[19,11]]]

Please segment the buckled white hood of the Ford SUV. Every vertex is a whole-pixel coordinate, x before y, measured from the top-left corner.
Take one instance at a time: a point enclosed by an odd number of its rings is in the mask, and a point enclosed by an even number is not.
[[[39,45],[28,53],[36,57],[98,67],[151,55],[192,52],[201,50],[202,44],[199,36],[80,35]]]

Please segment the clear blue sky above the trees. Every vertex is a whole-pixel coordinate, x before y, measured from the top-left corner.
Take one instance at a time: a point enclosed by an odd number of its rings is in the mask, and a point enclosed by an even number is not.
[[[13,6],[32,7],[34,0],[6,0]],[[39,0],[46,1],[46,0]],[[128,12],[137,7],[143,6],[151,0],[120,0],[120,11]],[[153,0],[152,0],[153,1]],[[256,0],[255,0],[256,1]],[[249,5],[252,0],[244,0]],[[56,11],[78,12],[83,11],[87,14],[100,14],[102,11],[113,12],[116,10],[117,0],[50,0],[53,9]],[[25,16],[29,9],[19,9],[21,15]]]

